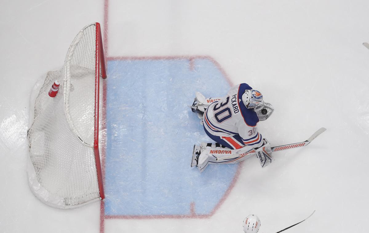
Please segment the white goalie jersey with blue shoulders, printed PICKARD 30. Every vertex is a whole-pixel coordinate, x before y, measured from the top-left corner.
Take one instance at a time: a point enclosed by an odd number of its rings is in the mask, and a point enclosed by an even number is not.
[[[209,105],[204,112],[204,128],[215,136],[239,136],[238,141],[246,146],[262,146],[262,135],[256,126],[259,122],[258,115],[242,102],[242,94],[251,89],[248,84],[241,83],[232,87],[225,97]]]

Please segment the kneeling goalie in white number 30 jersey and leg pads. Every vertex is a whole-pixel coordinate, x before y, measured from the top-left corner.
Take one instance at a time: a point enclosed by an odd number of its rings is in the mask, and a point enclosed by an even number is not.
[[[270,117],[274,108],[263,101],[259,91],[241,83],[222,98],[205,98],[196,92],[191,108],[216,142],[194,145],[191,167],[203,171],[209,163],[238,163],[255,154],[261,167],[272,162],[270,143],[256,125]]]

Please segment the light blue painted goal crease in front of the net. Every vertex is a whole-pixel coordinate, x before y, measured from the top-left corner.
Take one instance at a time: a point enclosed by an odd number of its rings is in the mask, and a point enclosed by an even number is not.
[[[112,60],[107,79],[106,215],[209,214],[237,170],[191,168],[194,144],[211,142],[188,105],[195,91],[230,88],[208,59]]]

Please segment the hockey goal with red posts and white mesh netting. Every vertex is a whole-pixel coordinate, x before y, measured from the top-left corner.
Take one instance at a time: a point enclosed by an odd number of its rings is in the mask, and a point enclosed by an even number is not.
[[[101,69],[100,69],[101,68]],[[48,72],[27,133],[28,181],[41,201],[75,208],[104,199],[99,154],[99,79],[106,77],[100,24],[84,27],[61,70]],[[56,97],[48,92],[55,80]]]

